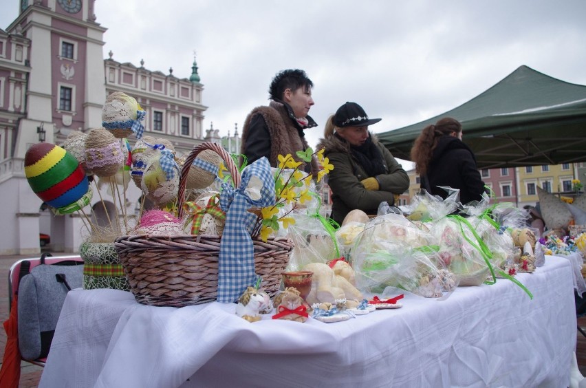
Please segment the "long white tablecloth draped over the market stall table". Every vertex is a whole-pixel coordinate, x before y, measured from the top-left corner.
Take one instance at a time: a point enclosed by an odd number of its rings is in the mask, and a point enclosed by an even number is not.
[[[234,304],[158,308],[117,290],[69,292],[39,387],[567,387],[572,266],[546,257],[438,301],[339,323],[248,323]]]

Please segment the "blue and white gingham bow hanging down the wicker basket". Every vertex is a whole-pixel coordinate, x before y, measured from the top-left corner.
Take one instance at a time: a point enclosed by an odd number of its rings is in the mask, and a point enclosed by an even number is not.
[[[254,191],[254,187],[259,191]],[[217,301],[235,302],[249,285],[257,283],[254,245],[249,233],[257,216],[248,209],[274,203],[274,180],[267,158],[261,158],[244,169],[240,187],[222,184],[220,207],[226,212],[226,225],[220,242]]]

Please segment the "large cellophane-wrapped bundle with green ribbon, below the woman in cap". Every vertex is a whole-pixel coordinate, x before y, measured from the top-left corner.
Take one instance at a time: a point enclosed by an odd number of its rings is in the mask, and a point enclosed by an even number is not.
[[[352,248],[356,286],[366,294],[401,288],[423,297],[442,297],[457,285],[445,270],[437,241],[403,215],[372,219]]]

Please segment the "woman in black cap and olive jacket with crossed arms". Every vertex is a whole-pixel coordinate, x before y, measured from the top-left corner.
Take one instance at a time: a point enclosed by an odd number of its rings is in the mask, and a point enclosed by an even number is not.
[[[381,202],[394,204],[394,195],[409,188],[409,176],[393,155],[368,131],[380,118],[368,118],[356,103],[345,103],[325,125],[318,149],[334,169],[327,183],[332,189],[332,219],[340,224],[360,209],[376,215]]]

